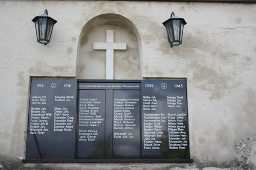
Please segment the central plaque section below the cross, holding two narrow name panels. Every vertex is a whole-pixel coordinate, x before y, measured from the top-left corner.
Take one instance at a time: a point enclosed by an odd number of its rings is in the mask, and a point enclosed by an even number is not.
[[[77,158],[139,159],[140,83],[81,82],[78,87]],[[92,107],[101,122],[93,128],[88,125],[93,118],[89,98],[99,103]],[[88,141],[89,130],[98,133],[94,140]]]

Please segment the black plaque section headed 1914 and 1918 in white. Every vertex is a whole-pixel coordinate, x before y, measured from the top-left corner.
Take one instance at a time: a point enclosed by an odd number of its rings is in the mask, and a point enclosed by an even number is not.
[[[76,80],[31,80],[26,159],[74,159]]]

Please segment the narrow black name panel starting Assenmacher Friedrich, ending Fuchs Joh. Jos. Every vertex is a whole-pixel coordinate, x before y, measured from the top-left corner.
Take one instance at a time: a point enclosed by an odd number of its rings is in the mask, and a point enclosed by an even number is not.
[[[140,158],[140,91],[114,90],[113,158]]]

